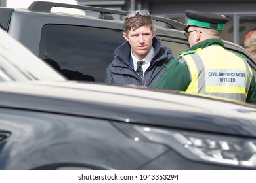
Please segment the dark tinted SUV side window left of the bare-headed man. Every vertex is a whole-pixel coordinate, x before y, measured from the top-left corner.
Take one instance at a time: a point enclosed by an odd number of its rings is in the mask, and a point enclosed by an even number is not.
[[[47,24],[41,31],[39,57],[52,59],[64,73],[92,76],[95,82],[104,82],[114,50],[125,41],[122,33],[116,29]]]

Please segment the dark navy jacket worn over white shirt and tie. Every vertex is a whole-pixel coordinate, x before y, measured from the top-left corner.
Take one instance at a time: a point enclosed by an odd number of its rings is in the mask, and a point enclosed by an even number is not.
[[[124,42],[114,51],[114,59],[106,69],[105,82],[153,86],[165,73],[167,63],[173,59],[173,53],[157,37],[153,38],[152,46],[155,49],[155,56],[144,73],[143,82],[140,82],[139,76],[130,65],[131,46],[129,42]]]

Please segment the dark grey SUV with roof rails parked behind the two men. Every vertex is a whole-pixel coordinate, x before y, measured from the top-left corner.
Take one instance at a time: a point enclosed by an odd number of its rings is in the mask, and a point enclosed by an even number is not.
[[[70,9],[84,13],[68,13]],[[39,58],[53,59],[61,69],[104,82],[114,50],[125,41],[122,33],[126,14],[122,10],[35,1],[28,9],[1,7],[0,24]],[[175,56],[189,48],[184,37],[186,25],[154,14],[152,18],[156,23],[156,37],[171,48]],[[224,43],[228,50],[247,58],[256,75],[256,63],[249,53],[232,42]]]

